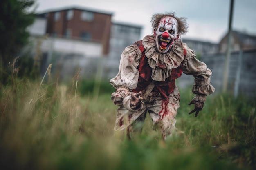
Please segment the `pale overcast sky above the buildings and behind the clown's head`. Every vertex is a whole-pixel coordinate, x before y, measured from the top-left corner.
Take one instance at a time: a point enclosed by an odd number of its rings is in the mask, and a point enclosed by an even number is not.
[[[183,38],[218,43],[228,31],[230,0],[36,0],[37,12],[79,6],[113,13],[112,22],[143,26],[141,38],[152,34],[154,13],[175,12],[186,17],[189,32]],[[256,0],[234,0],[232,28],[256,35]]]

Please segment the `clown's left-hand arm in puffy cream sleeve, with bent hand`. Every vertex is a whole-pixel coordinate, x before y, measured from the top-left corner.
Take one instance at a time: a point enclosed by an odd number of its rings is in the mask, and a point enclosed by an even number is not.
[[[110,80],[110,84],[117,89],[112,93],[111,99],[115,105],[123,105],[128,110],[137,110],[141,107],[139,94],[131,91],[137,87],[139,79],[139,59],[141,51],[136,45],[128,46],[121,54],[119,71],[117,75]]]

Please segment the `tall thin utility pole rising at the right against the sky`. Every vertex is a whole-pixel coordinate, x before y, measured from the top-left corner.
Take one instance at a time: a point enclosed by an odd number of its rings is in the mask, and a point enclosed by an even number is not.
[[[229,78],[229,63],[230,63],[230,51],[231,51],[231,36],[232,36],[232,18],[233,18],[233,6],[234,0],[230,0],[230,13],[229,13],[229,32],[228,32],[228,39],[227,39],[227,52],[225,58],[225,65],[223,68],[223,85],[222,85],[222,92],[225,93],[227,91],[227,84]]]

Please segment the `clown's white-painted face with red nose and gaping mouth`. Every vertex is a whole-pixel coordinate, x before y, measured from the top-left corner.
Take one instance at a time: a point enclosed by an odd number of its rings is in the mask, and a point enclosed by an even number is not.
[[[160,20],[157,30],[154,30],[155,46],[159,53],[168,53],[174,41],[179,38],[178,22],[173,17],[164,17]]]

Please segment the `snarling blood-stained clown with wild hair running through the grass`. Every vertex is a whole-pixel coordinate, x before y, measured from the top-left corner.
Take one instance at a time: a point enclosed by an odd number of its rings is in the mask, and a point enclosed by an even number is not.
[[[206,96],[215,91],[210,84],[211,70],[180,40],[188,29],[186,18],[175,13],[155,14],[151,22],[154,34],[124,49],[119,72],[110,80],[117,89],[111,99],[119,105],[114,130],[126,129],[129,138],[141,132],[147,112],[153,130],[159,128],[164,139],[172,135],[180,106],[175,79],[182,73],[195,78],[192,92],[196,95],[189,103],[195,108],[189,114],[195,112],[196,117]]]

